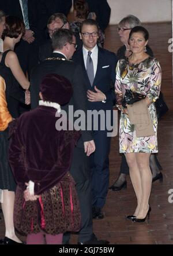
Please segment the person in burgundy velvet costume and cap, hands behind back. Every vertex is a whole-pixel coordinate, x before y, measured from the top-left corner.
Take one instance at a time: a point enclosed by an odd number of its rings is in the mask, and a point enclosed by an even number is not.
[[[68,103],[72,94],[68,79],[57,74],[44,76],[39,107],[14,120],[10,129],[9,162],[17,182],[14,226],[27,235],[27,244],[62,244],[63,233],[78,231],[81,226],[69,173],[81,134],[61,130],[57,124],[61,105]]]

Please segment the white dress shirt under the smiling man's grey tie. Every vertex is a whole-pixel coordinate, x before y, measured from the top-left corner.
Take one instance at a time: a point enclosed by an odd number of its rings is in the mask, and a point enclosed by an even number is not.
[[[84,56],[84,64],[85,64],[85,68],[86,68],[86,60],[87,60],[89,51],[84,46],[83,46],[82,50],[83,50],[83,56]],[[92,62],[93,62],[94,76],[95,76],[96,71],[97,71],[97,63],[98,63],[98,46],[95,45],[95,47],[93,47],[93,49],[90,50],[90,52],[92,52],[91,58],[92,58]]]

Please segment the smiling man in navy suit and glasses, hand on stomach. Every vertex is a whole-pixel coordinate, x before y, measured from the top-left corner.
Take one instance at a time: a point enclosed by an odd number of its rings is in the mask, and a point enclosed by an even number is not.
[[[109,111],[112,119],[115,93],[111,85],[115,83],[116,55],[97,46],[98,25],[95,20],[82,22],[80,36],[83,47],[74,54],[73,60],[82,66],[88,88],[88,109],[104,111],[106,118]],[[103,218],[101,209],[108,191],[111,138],[107,136],[107,129],[101,127],[101,122],[97,129],[94,126],[92,129],[96,144],[96,151],[91,156],[93,218],[99,219]]]

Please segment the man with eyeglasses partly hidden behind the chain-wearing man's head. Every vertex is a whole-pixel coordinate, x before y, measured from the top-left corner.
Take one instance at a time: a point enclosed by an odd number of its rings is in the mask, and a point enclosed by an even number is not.
[[[59,28],[66,28],[69,30],[69,21],[67,17],[63,13],[54,13],[52,14],[47,21],[47,32],[49,38],[47,42],[40,46],[39,51],[39,61],[42,62],[47,57],[50,57],[52,54],[52,35],[55,31],[59,30]]]

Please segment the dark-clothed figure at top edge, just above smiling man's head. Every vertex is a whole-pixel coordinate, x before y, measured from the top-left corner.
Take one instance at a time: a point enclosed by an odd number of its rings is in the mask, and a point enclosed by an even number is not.
[[[95,12],[97,23],[101,30],[105,30],[110,21],[111,8],[107,0],[86,0],[88,3],[89,12]]]

